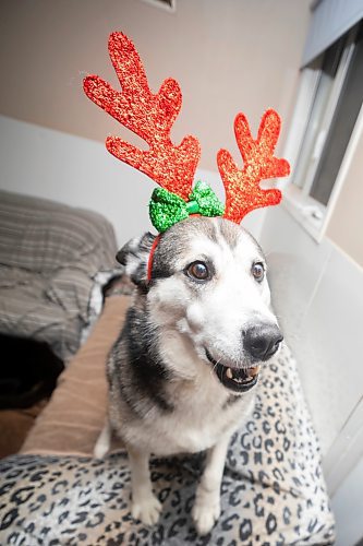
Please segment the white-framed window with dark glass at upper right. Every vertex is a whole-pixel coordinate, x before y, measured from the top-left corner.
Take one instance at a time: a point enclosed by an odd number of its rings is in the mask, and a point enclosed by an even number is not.
[[[319,239],[363,102],[363,27],[355,26],[304,68],[287,153],[289,209]],[[297,145],[298,143],[298,145]]]

